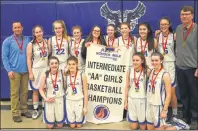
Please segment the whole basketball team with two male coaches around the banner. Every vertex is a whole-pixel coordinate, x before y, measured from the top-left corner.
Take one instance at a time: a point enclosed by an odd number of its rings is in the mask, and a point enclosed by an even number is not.
[[[20,21],[12,23],[13,35],[2,44],[2,62],[10,80],[11,112],[14,122],[22,117],[43,117],[49,129],[80,128],[86,122],[88,88],[85,75],[87,49],[100,44],[132,52],[132,63],[126,72],[124,108],[131,129],[189,130],[198,129],[198,66],[197,24],[194,9],[184,6],[181,24],[173,31],[168,17],[159,20],[159,30],[150,24],[138,24],[138,36],[131,34],[129,23],[116,27],[109,24],[106,34],[93,26],[86,39],[80,26],[72,27],[68,36],[64,21],[53,24],[54,36],[45,39],[42,26],[32,29],[33,39],[24,36]],[[175,78],[177,77],[177,82]],[[175,87],[179,88],[183,105],[182,117],[177,114]],[[33,111],[28,111],[28,90],[32,90]],[[39,95],[43,99],[39,110]],[[20,100],[19,100],[20,99]],[[169,106],[172,117],[167,121]],[[123,109],[124,110],[124,109]]]

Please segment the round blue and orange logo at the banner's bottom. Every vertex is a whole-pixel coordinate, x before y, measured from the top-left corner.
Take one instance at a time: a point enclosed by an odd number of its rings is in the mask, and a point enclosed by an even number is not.
[[[105,120],[109,117],[109,108],[105,105],[97,105],[93,111],[94,116],[98,120]]]

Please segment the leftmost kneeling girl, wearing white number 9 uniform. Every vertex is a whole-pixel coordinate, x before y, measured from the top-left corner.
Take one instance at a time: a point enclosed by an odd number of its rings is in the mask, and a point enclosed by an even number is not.
[[[59,60],[55,56],[49,58],[49,71],[41,79],[39,92],[45,100],[44,121],[48,128],[56,123],[58,128],[63,127],[65,121],[64,102],[64,75],[59,70]]]

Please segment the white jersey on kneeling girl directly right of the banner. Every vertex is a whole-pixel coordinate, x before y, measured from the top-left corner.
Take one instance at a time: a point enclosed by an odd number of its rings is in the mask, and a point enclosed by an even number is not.
[[[140,76],[140,72],[136,72],[136,81]],[[141,73],[140,79],[139,79],[139,90],[135,88],[135,77],[134,77],[134,68],[130,69],[130,87],[129,87],[129,92],[128,96],[131,98],[145,98],[146,97],[146,75],[144,75],[144,70]]]

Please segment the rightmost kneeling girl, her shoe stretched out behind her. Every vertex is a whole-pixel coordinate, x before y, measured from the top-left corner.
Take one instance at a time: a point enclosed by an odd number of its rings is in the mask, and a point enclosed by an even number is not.
[[[189,125],[174,118],[174,124],[166,124],[168,106],[171,100],[171,78],[163,68],[164,57],[159,52],[151,54],[153,70],[147,85],[146,120],[148,130],[188,130]]]

